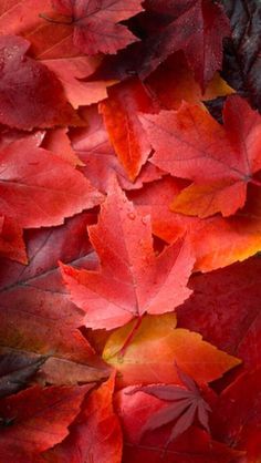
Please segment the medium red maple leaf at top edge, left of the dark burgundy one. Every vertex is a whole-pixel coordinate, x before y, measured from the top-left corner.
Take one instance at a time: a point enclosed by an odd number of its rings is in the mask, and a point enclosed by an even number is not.
[[[73,42],[86,54],[116,53],[137,38],[119,21],[139,11],[140,0],[53,0],[58,13],[74,27]]]

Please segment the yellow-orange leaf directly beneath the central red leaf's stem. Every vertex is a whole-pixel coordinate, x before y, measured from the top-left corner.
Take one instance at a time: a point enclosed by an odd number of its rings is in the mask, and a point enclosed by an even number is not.
[[[103,358],[118,371],[119,387],[180,383],[175,362],[199,384],[220,378],[240,363],[203,341],[200,335],[176,328],[174,313],[146,316],[126,346],[133,323],[114,331],[103,352]]]

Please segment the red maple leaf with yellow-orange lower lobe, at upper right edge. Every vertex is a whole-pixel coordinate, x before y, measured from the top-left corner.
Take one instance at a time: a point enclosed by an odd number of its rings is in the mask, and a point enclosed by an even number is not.
[[[220,125],[202,107],[184,103],[178,111],[140,116],[155,148],[152,162],[188,178],[173,210],[208,217],[243,207],[248,183],[261,168],[261,117],[239,96],[230,96]]]

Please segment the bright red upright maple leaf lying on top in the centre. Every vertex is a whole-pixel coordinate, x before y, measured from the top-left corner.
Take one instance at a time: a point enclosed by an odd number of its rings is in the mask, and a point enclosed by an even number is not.
[[[116,182],[88,234],[101,269],[61,265],[72,301],[86,311],[86,327],[116,328],[145,312],[170,311],[189,296],[194,258],[186,241],[177,241],[156,257],[150,218],[135,210]]]

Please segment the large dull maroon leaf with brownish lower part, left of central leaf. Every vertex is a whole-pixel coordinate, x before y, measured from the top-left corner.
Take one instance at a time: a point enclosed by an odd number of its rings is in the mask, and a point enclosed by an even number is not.
[[[27,352],[32,361],[48,356],[42,383],[97,381],[111,371],[77,329],[85,313],[69,300],[58,268],[59,258],[81,267],[88,263],[90,268],[86,225],[94,222],[95,216],[84,213],[61,227],[28,230],[29,265],[1,259],[0,352]]]

